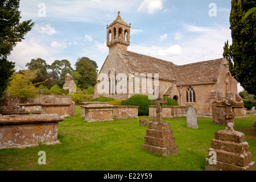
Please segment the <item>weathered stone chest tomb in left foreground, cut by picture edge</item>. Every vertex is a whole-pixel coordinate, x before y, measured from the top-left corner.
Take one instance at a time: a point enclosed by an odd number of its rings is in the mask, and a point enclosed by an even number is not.
[[[58,122],[63,120],[57,114],[0,115],[0,149],[60,143]]]

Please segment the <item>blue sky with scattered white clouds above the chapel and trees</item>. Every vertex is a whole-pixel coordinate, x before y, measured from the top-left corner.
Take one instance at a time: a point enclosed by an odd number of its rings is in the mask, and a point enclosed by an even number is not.
[[[106,24],[117,12],[131,23],[129,51],[183,65],[222,57],[231,1],[221,0],[20,0],[22,20],[35,26],[11,52],[16,69],[38,57],[67,59],[75,68],[89,57],[101,68],[108,56]]]

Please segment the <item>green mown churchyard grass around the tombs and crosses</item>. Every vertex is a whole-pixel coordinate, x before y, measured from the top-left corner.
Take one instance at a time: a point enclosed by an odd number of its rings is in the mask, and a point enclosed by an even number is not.
[[[0,170],[200,171],[205,170],[214,132],[225,129],[209,117],[197,118],[199,129],[188,128],[185,117],[164,118],[174,131],[179,154],[163,157],[141,149],[147,127],[139,126],[139,119],[147,116],[103,122],[85,122],[79,116],[80,106],[76,106],[76,117],[66,117],[59,123],[61,144],[0,150]],[[256,162],[256,137],[251,134],[256,115],[234,121],[235,130],[246,134],[252,161]],[[38,163],[39,151],[46,152],[45,165]]]

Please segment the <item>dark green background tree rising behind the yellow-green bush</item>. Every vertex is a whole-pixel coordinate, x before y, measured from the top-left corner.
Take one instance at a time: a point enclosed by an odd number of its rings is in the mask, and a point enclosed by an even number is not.
[[[35,80],[32,81],[34,84],[37,82],[44,82],[45,86],[50,86],[50,81],[46,81],[50,78],[50,75],[47,72],[49,65],[46,63],[46,60],[41,58],[31,59],[30,63],[26,64],[26,67],[30,71],[39,70],[38,76],[35,78]]]

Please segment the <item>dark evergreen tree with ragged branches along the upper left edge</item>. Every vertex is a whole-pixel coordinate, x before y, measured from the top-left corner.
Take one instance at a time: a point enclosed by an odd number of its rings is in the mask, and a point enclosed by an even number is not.
[[[18,9],[19,0],[0,1],[0,104],[15,67],[15,63],[8,61],[7,56],[34,26],[32,20],[20,22],[22,17]]]

